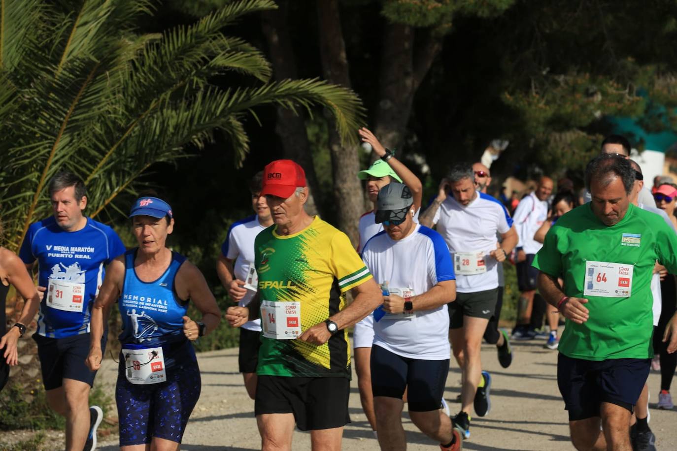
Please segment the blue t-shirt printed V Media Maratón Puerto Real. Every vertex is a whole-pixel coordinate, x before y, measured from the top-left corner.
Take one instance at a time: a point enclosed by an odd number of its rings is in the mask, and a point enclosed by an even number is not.
[[[59,227],[53,216],[35,222],[19,251],[25,264],[38,260],[41,287],[47,288],[40,303],[39,335],[63,338],[89,332],[91,307],[104,281],[105,267],[125,253],[125,245],[106,224],[87,218],[83,229],[68,232]],[[49,281],[85,285],[77,295],[82,311],[67,311],[47,305]]]

